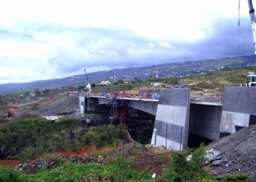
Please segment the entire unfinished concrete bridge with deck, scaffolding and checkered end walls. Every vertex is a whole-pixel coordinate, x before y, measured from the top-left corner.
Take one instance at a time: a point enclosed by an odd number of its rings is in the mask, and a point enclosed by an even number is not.
[[[109,118],[128,119],[128,108],[155,115],[151,144],[183,150],[189,135],[217,140],[256,124],[256,87],[225,87],[215,96],[192,96],[189,88],[80,93],[81,114],[110,106]]]

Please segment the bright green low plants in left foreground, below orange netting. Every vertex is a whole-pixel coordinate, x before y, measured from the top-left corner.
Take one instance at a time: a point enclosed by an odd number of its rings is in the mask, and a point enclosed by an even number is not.
[[[52,169],[51,171],[40,171],[35,175],[22,175],[18,171],[13,169],[0,168],[2,174],[0,175],[0,181],[89,181],[93,179],[96,181],[96,177],[100,181],[135,181],[140,176],[139,173],[133,168],[133,164],[129,160],[117,158],[115,163],[103,165],[103,164],[75,164],[67,163],[63,164],[60,169]],[[154,181],[151,175],[146,175],[140,181]]]

